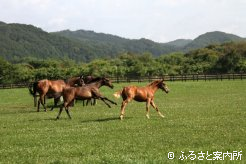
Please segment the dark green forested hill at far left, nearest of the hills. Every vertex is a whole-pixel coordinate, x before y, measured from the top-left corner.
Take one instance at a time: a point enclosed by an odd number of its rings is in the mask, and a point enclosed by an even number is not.
[[[53,35],[32,25],[0,24],[0,56],[6,60],[21,58],[70,58],[86,60],[88,49],[65,37]]]

